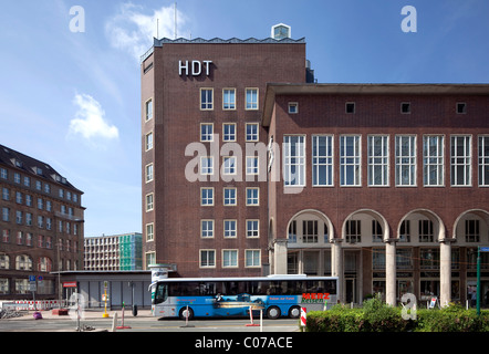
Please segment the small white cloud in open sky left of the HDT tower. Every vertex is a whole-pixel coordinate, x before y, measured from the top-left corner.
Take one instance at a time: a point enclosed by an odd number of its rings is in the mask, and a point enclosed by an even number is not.
[[[117,127],[105,121],[102,105],[92,96],[76,94],[74,104],[79,111],[76,111],[75,118],[70,122],[70,134],[80,134],[87,140],[96,137],[118,138]]]

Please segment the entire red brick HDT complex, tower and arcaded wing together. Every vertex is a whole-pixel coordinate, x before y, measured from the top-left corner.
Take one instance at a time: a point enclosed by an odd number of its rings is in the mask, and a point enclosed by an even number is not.
[[[337,275],[344,302],[470,300],[489,246],[488,95],[318,84],[288,35],[155,39],[142,60],[146,266]]]

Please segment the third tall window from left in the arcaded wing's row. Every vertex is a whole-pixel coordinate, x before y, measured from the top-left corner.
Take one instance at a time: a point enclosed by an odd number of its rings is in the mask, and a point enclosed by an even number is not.
[[[361,186],[361,138],[340,137],[340,185]]]

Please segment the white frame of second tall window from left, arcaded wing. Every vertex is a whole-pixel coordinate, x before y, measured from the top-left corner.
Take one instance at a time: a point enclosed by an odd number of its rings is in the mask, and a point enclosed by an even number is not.
[[[320,153],[320,139],[325,139],[325,155]],[[329,154],[327,152],[331,152]],[[320,180],[320,171],[324,169],[325,179]],[[312,136],[312,186],[332,187],[334,186],[334,136],[313,135]]]

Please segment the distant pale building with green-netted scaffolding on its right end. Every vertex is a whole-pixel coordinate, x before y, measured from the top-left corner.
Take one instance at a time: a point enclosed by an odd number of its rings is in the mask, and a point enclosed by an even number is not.
[[[142,270],[142,233],[87,237],[84,240],[84,270]]]

